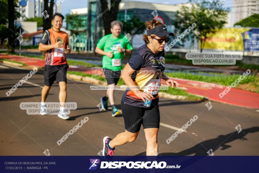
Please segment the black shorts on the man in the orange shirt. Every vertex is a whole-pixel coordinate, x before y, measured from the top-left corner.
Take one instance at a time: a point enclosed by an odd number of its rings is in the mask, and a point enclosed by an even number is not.
[[[43,70],[44,85],[51,86],[55,80],[57,80],[57,83],[67,83],[67,69],[68,64],[45,65]]]

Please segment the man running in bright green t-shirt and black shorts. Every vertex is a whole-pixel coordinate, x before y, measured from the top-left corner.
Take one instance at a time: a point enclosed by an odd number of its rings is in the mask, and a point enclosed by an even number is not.
[[[124,53],[131,54],[133,49],[128,42],[127,37],[121,34],[121,29],[123,27],[122,22],[112,21],[111,22],[111,32],[112,34],[105,35],[97,43],[95,52],[103,55],[102,57],[102,68],[104,75],[109,85],[109,89],[106,95],[101,98],[103,109],[107,110],[108,99],[112,106],[112,116],[119,115],[118,109],[114,102],[114,87],[117,85],[121,70],[122,70],[122,59]]]

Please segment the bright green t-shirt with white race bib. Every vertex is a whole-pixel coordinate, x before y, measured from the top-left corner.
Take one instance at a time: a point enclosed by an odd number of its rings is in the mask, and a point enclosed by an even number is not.
[[[122,34],[117,39],[113,38],[112,34],[103,36],[97,43],[97,47],[102,49],[104,52],[113,51],[112,58],[109,58],[106,55],[103,55],[102,57],[102,68],[107,68],[109,70],[122,70],[124,52],[117,52],[118,47],[133,50],[132,46],[127,41],[127,38]]]

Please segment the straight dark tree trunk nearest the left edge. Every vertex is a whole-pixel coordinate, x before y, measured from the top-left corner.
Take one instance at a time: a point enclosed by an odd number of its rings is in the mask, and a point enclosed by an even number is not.
[[[14,0],[8,0],[8,52],[14,53],[15,32],[14,32]]]

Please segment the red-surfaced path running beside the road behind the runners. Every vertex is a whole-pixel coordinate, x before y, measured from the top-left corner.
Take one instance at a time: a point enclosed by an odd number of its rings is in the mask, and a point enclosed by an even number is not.
[[[44,66],[44,60],[41,59],[19,57],[16,55],[4,55],[1,53],[0,57],[12,61],[23,62],[24,64],[31,66]],[[91,67],[77,67],[71,65],[68,70],[92,74]],[[223,98],[220,98],[219,94],[225,90],[226,86],[194,80],[178,78],[172,79],[176,80],[180,84],[179,88],[186,90],[187,93],[201,95],[208,98],[209,100],[217,101],[220,103],[226,103],[247,108],[259,108],[259,94],[257,93],[251,93],[248,91],[231,88],[231,90]],[[162,80],[161,83],[165,84],[165,81]]]

